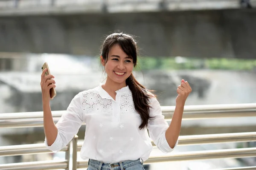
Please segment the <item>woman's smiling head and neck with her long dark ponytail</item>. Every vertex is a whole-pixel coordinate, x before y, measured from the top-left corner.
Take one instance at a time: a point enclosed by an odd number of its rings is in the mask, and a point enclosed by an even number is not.
[[[151,93],[132,74],[137,65],[137,43],[127,34],[111,34],[102,45],[101,63],[108,75],[102,88],[115,100],[116,90],[128,86],[131,89],[134,108],[142,118],[140,129],[148,125]],[[113,91],[113,87],[114,91]]]

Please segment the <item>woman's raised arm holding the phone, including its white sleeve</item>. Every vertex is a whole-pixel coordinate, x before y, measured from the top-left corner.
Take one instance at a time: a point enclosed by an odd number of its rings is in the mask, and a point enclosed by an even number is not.
[[[83,123],[81,109],[81,93],[77,94],[67,111],[61,116],[61,119],[55,125],[50,108],[50,88],[55,88],[54,76],[51,74],[45,76],[47,69],[41,74],[42,102],[44,111],[44,134],[45,145],[49,150],[57,152],[65,147],[68,142],[76,135]]]

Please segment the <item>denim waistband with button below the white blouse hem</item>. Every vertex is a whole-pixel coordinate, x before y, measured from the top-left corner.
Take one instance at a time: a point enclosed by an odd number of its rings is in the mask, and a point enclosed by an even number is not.
[[[96,161],[96,160],[93,160],[93,159],[89,159],[88,161],[88,165],[92,166],[92,167],[95,167],[95,168],[98,168],[99,170],[123,170],[124,168],[128,168],[128,167],[131,167],[133,165],[136,165],[136,164],[140,164],[140,158],[137,159],[137,160],[128,160],[128,161],[121,161],[121,162],[118,162],[118,163],[104,163],[102,161]],[[143,164],[143,162],[142,162]]]

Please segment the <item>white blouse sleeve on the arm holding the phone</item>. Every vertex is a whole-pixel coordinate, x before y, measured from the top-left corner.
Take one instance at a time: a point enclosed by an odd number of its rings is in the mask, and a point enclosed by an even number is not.
[[[78,133],[79,128],[83,123],[82,111],[81,111],[81,92],[77,94],[70,105],[67,108],[67,112],[62,114],[59,121],[56,123],[58,128],[58,134],[55,142],[48,146],[47,139],[45,138],[45,145],[49,150],[53,152],[60,151],[63,147],[73,139],[73,137]]]

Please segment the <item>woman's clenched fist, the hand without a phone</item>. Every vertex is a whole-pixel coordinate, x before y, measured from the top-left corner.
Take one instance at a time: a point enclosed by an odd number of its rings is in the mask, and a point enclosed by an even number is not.
[[[186,99],[191,93],[192,89],[189,83],[185,80],[181,80],[181,84],[177,88],[177,98],[176,98],[176,105],[185,105]]]

